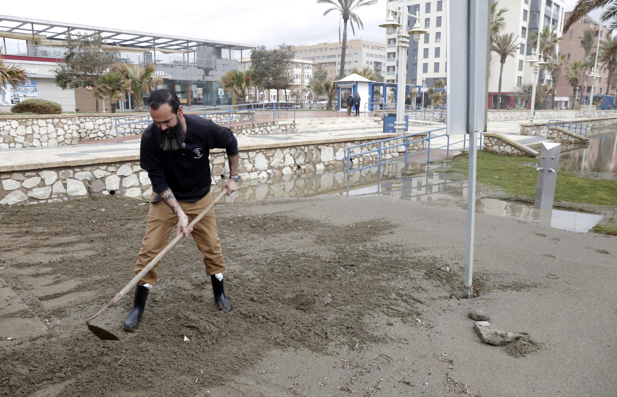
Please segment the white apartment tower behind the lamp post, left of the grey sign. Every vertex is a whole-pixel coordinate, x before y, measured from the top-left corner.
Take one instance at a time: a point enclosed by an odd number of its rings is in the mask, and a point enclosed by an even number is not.
[[[388,0],[386,7],[400,9],[402,0]],[[414,85],[433,86],[435,80],[445,80],[445,1],[407,1],[407,12],[420,17],[420,27],[427,31],[420,36],[420,41],[409,38],[407,52],[407,78]],[[387,14],[387,13],[386,13]],[[393,15],[400,23],[400,15]],[[408,28],[411,29],[415,18],[410,17]],[[396,36],[386,34],[386,83],[397,83]]]

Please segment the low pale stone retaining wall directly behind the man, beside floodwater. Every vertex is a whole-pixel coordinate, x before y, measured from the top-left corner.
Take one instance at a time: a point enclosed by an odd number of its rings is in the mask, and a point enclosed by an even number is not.
[[[342,170],[346,168],[344,147],[365,142],[370,141],[241,150],[239,168],[244,181],[326,169]],[[422,149],[426,147],[425,143],[417,142],[413,148]],[[362,151],[376,149],[377,146],[368,145]],[[354,153],[360,151],[360,148],[353,149]],[[384,153],[386,159],[397,156],[395,148]],[[363,155],[355,158],[353,164],[363,166],[375,163],[377,157],[377,153]],[[213,179],[220,179],[222,174],[228,173],[228,162],[222,150],[210,152],[210,162]],[[2,173],[0,181],[0,205],[45,203],[101,195],[149,199],[152,194],[150,179],[147,172],[139,167],[139,160]]]

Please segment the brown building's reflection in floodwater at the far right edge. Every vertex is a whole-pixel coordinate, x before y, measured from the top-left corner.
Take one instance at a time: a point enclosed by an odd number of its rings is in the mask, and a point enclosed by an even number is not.
[[[589,147],[561,153],[560,171],[614,178],[617,172],[617,126],[590,131]]]

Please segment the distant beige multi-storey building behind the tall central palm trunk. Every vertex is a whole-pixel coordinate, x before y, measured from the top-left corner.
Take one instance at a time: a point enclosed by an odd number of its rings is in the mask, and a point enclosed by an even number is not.
[[[333,80],[341,70],[342,43],[318,43],[312,46],[296,46],[297,59],[312,60],[315,67],[323,66]],[[362,70],[368,66],[377,75],[384,76],[386,45],[363,39],[347,40],[345,54],[345,73],[354,68]]]

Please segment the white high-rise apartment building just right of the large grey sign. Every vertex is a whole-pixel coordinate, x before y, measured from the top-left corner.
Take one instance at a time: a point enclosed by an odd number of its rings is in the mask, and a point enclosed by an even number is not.
[[[520,49],[514,57],[508,57],[503,64],[501,104],[497,104],[499,90],[499,55],[491,51],[489,68],[489,108],[520,107],[521,101],[513,93],[516,87],[524,83],[532,83],[533,68],[528,62],[532,49],[530,36],[532,33],[550,27],[558,37],[565,22],[565,2],[563,0],[500,0],[498,9],[505,8],[503,14],[505,26],[500,35],[514,33],[520,40]],[[541,7],[541,8],[540,8]],[[559,46],[558,46],[559,47]],[[561,73],[563,78],[565,73]],[[552,86],[550,72],[545,72],[544,83]],[[565,80],[565,78],[564,78]],[[552,104],[547,104],[549,107]]]

